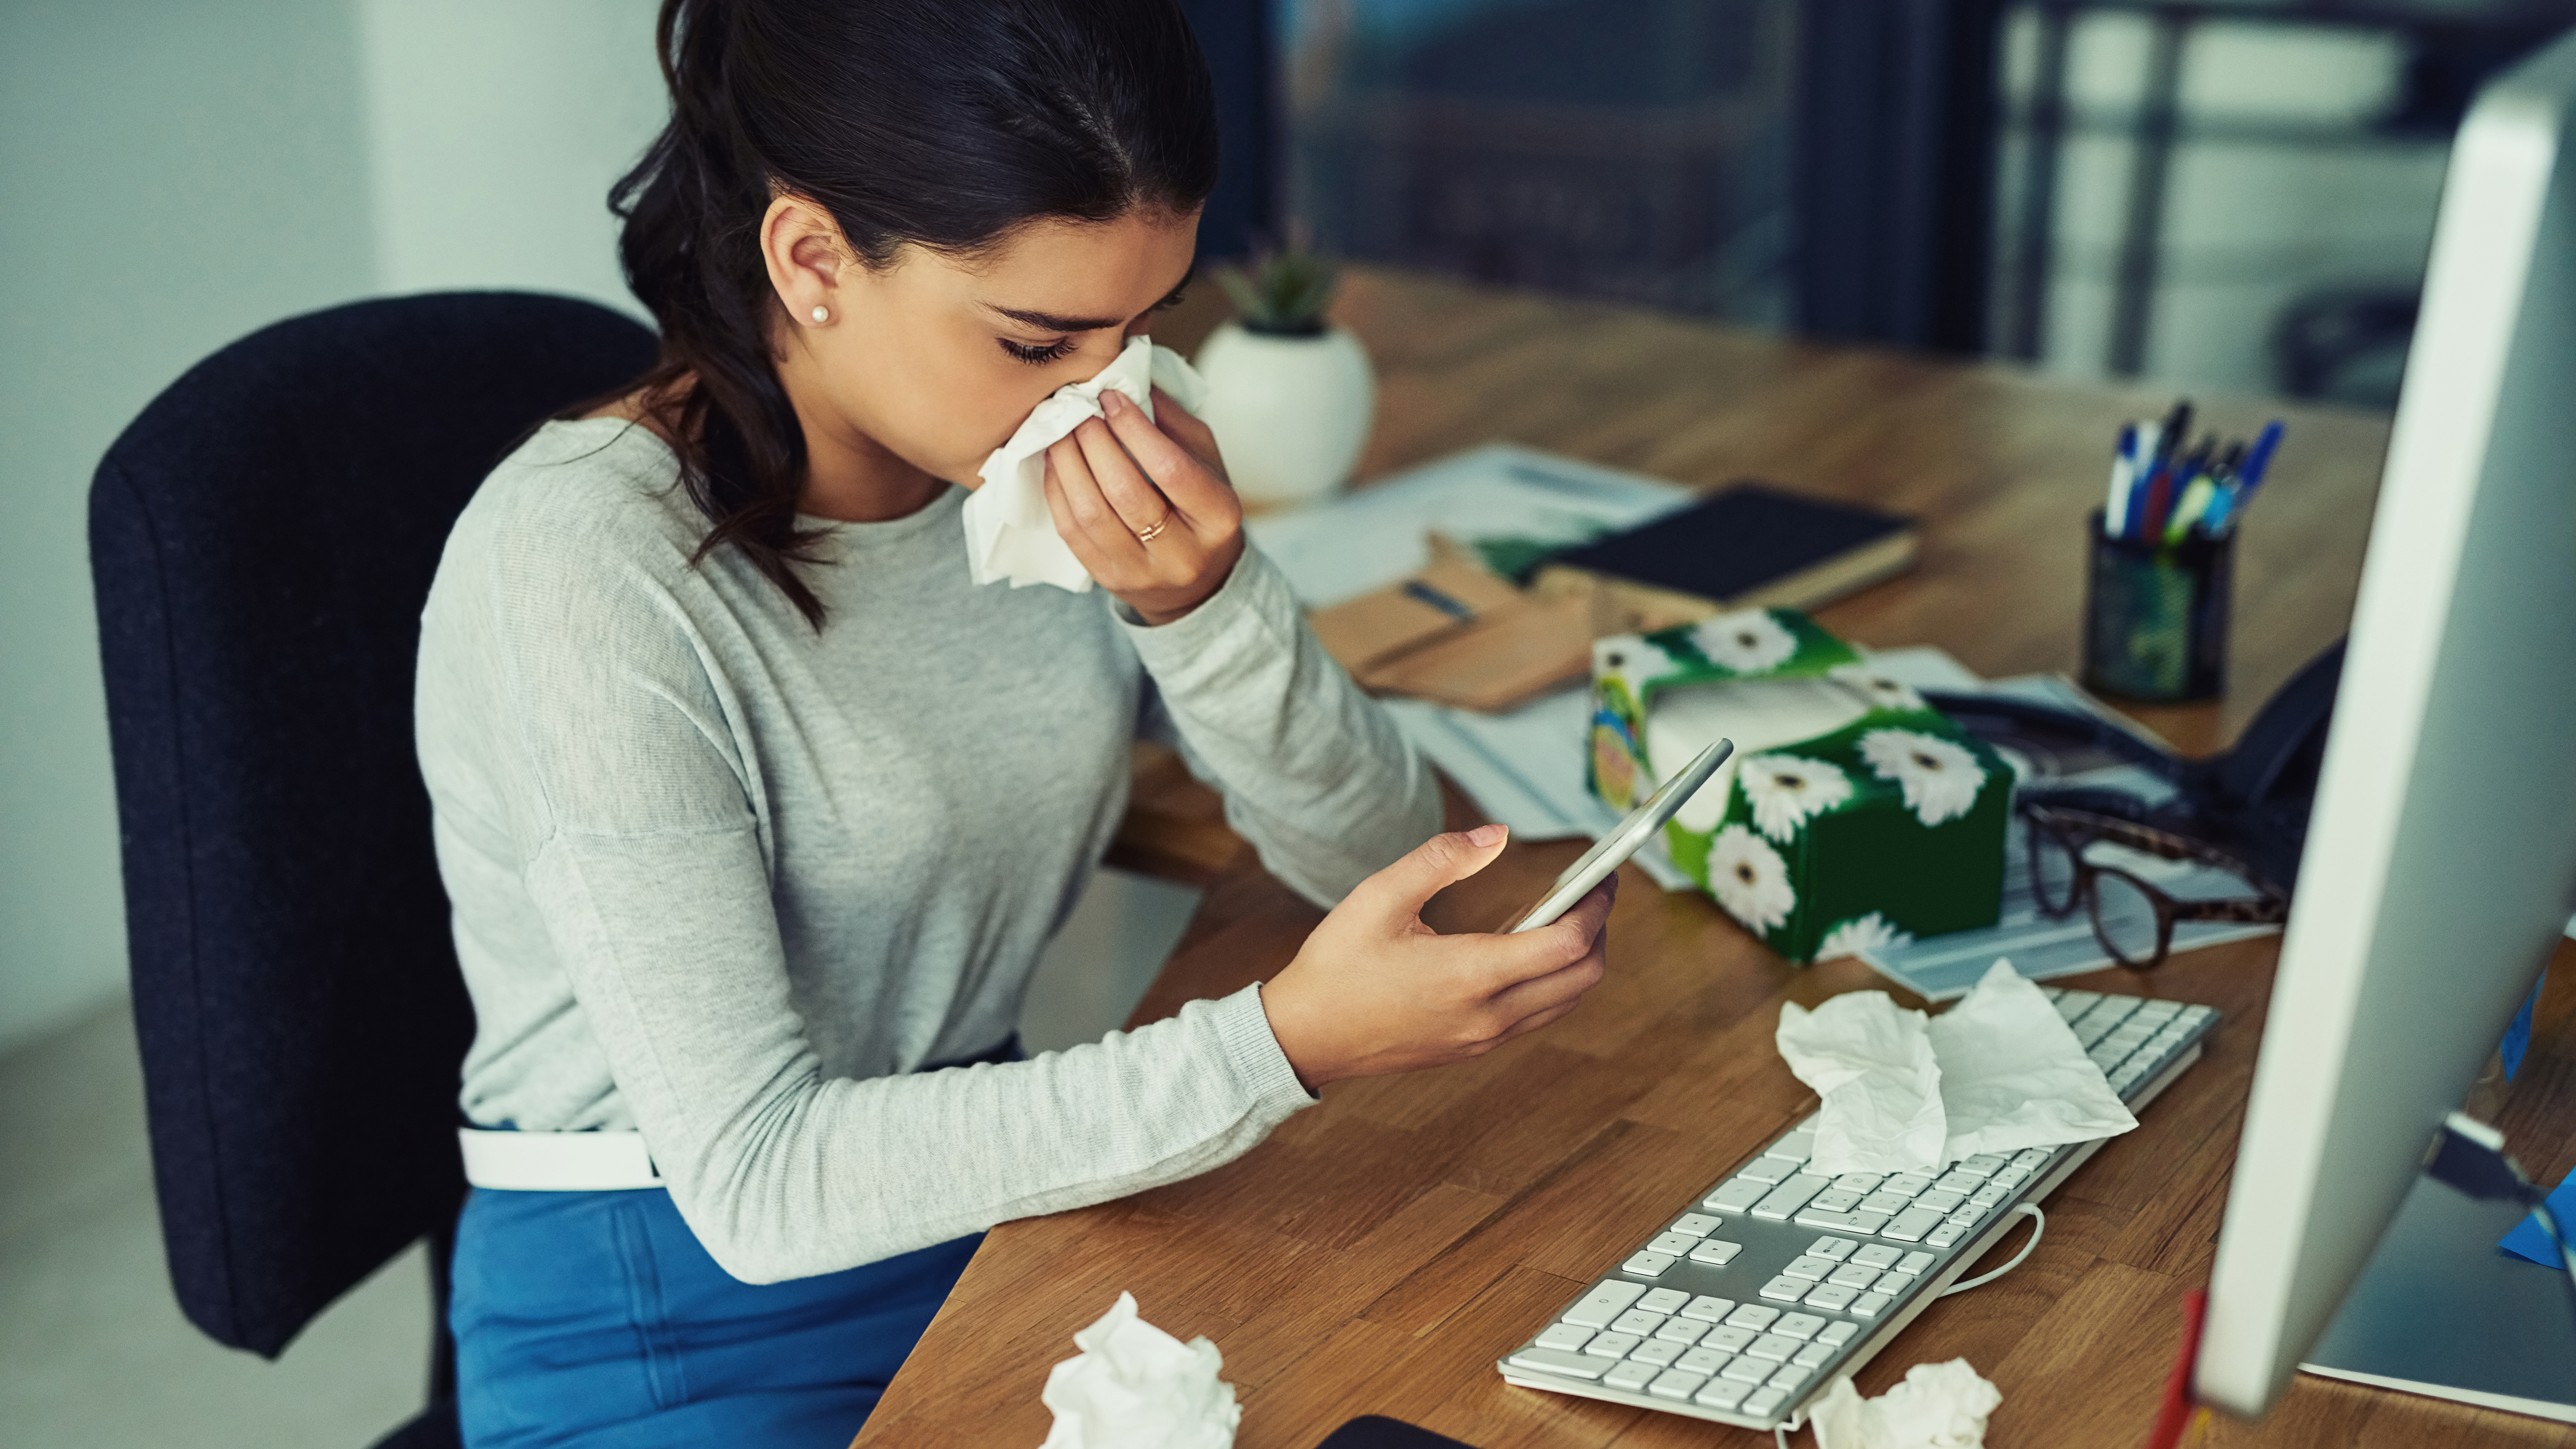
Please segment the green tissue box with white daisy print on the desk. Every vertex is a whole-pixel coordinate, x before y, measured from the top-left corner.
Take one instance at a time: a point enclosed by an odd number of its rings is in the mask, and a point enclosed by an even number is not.
[[[1664,848],[1793,962],[1994,926],[2012,768],[1793,608],[1592,645],[1592,792],[1643,799],[1710,740],[1734,758]]]

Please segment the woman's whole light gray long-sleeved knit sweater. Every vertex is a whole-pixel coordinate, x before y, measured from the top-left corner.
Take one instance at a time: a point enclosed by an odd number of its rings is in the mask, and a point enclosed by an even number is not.
[[[1033,1062],[1002,1042],[1175,740],[1332,902],[1437,792],[1247,552],[1144,629],[974,588],[963,492],[837,523],[814,632],[616,420],[551,423],[456,523],[420,639],[420,768],[484,1127],[641,1129],[747,1281],[868,1263],[1226,1163],[1309,1096],[1260,987]]]

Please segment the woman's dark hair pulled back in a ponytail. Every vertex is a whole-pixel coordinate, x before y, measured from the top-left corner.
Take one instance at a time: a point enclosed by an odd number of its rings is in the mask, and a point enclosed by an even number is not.
[[[974,258],[1043,217],[1190,211],[1216,188],[1208,64],[1175,0],[665,0],[657,44],[670,126],[608,193],[662,325],[644,400],[706,513],[698,557],[742,549],[822,627],[793,567],[814,534],[770,356],[770,201],[827,209],[866,266]]]

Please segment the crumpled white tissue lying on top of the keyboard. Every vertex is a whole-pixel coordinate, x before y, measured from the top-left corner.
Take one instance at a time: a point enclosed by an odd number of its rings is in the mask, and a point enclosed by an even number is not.
[[[1780,1008],[1780,1057],[1816,1088],[1819,1176],[1909,1173],[1978,1152],[2117,1137],[2138,1119],[2012,962],[1924,1018],[1883,990]]]

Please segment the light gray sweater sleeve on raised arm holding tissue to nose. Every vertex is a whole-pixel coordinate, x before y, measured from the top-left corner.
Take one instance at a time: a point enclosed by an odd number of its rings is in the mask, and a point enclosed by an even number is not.
[[[1332,905],[1440,830],[1430,766],[1324,652],[1257,547],[1190,614],[1121,619],[1190,771],[1298,895]]]

